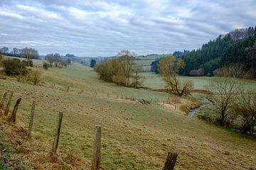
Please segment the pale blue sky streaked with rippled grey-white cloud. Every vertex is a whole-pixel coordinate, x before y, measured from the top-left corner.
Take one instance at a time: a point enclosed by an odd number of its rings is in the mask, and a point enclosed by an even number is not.
[[[0,47],[80,57],[193,50],[256,26],[255,0],[0,0]]]

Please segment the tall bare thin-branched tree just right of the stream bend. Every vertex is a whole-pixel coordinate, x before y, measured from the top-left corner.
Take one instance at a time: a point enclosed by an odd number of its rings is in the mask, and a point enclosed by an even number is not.
[[[209,98],[214,103],[210,109],[217,114],[216,121],[220,126],[228,123],[231,103],[241,87],[237,78],[242,77],[242,72],[242,66],[230,64],[219,69],[207,86],[210,91]]]

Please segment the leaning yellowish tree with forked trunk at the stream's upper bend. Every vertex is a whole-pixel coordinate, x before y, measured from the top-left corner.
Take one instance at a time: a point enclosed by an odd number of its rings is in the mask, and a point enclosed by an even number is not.
[[[164,57],[159,60],[159,73],[166,82],[166,89],[169,94],[183,96],[190,94],[193,84],[189,81],[181,82],[178,79],[178,69],[184,67],[184,62],[181,58]]]

